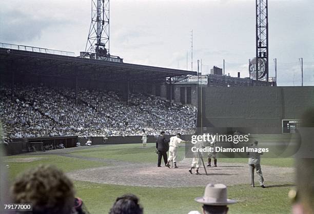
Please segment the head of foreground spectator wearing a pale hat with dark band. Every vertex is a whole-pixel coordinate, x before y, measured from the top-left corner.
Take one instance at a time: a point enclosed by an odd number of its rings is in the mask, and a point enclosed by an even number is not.
[[[226,214],[228,205],[237,203],[227,199],[227,186],[224,184],[207,184],[203,197],[194,199],[203,204],[203,214]]]

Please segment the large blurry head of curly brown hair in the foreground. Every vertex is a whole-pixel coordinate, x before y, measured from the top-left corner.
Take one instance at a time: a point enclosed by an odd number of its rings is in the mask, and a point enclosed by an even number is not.
[[[11,191],[15,203],[33,204],[33,214],[69,214],[74,206],[72,182],[51,165],[24,172]]]

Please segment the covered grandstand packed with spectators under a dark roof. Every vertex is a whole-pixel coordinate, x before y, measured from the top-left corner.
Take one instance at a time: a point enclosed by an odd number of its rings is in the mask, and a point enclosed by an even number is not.
[[[7,140],[131,136],[142,129],[150,135],[192,133],[195,128],[196,108],[171,103],[166,99],[171,90],[163,87],[166,77],[195,72],[21,46],[0,48],[0,64],[0,118]]]

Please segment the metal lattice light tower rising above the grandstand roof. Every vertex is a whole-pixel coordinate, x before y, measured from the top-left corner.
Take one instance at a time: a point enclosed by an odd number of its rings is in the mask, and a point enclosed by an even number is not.
[[[109,0],[91,0],[91,24],[85,53],[109,55]]]

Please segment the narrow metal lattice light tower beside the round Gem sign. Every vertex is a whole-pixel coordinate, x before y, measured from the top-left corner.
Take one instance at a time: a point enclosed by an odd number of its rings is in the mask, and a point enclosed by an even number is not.
[[[268,82],[268,0],[256,0],[256,59],[257,79]]]

